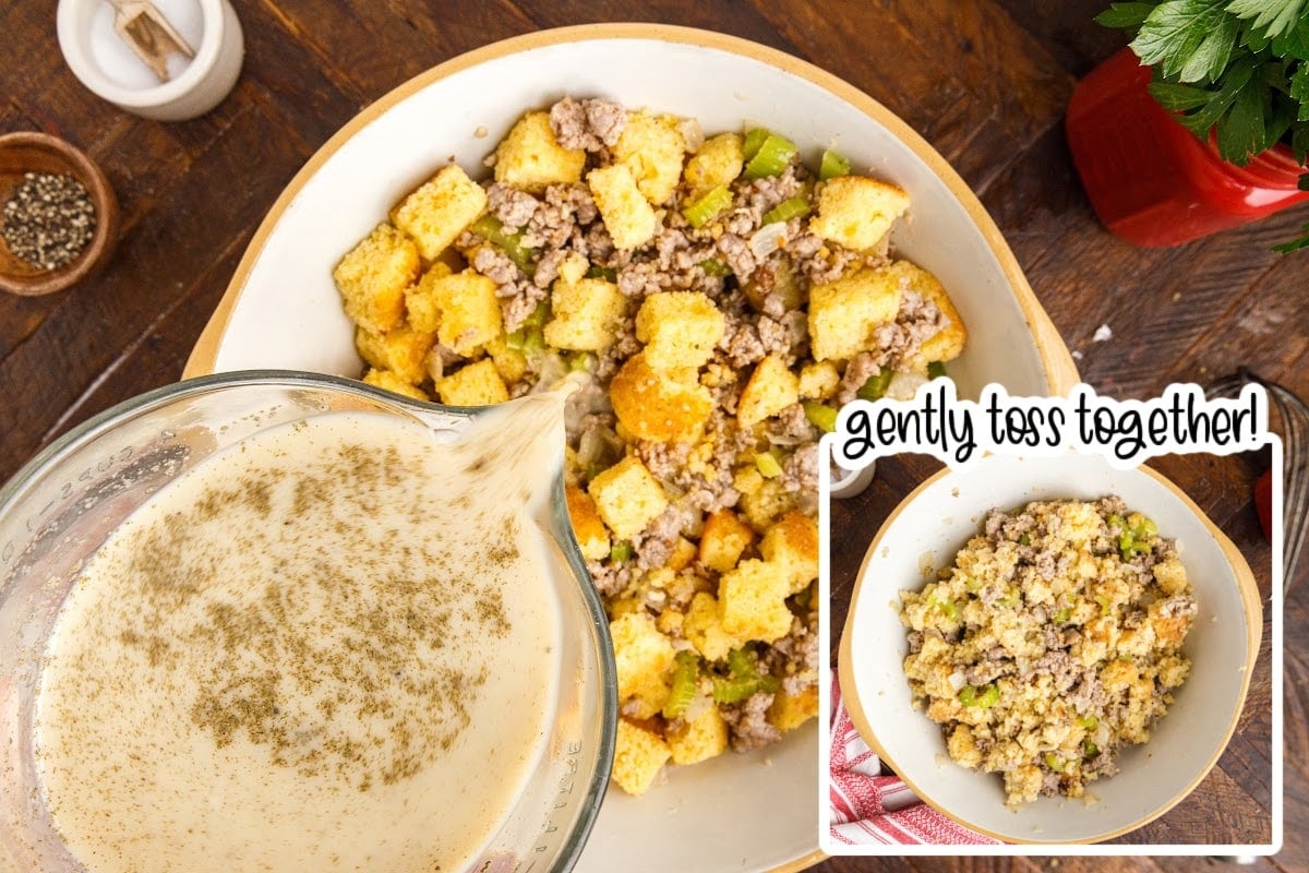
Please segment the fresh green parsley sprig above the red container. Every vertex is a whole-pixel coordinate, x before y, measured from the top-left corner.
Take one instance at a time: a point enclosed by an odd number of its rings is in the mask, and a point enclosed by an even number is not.
[[[1096,17],[1134,34],[1149,92],[1238,166],[1278,143],[1309,154],[1309,0],[1114,3]],[[1309,173],[1299,187],[1309,191]],[[1309,224],[1276,251],[1309,247]]]

